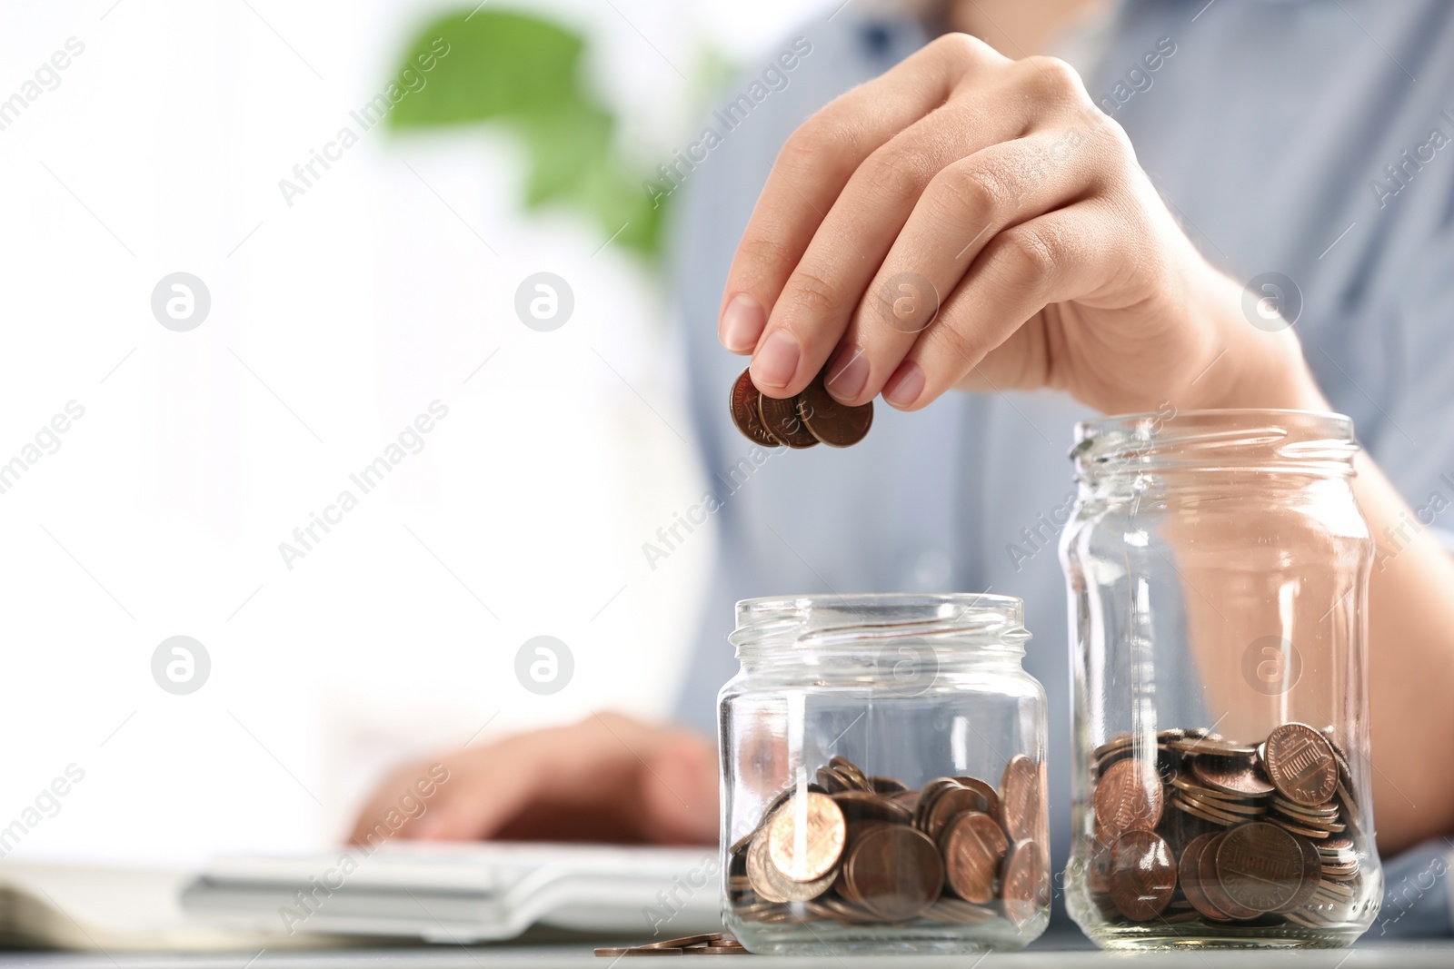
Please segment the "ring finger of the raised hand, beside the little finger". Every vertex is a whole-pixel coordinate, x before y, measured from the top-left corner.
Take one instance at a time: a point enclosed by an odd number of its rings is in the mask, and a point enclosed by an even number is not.
[[[851,405],[874,400],[999,232],[1099,187],[1096,169],[1066,164],[1067,151],[1061,131],[1041,131],[993,144],[933,177],[838,340],[829,394]]]

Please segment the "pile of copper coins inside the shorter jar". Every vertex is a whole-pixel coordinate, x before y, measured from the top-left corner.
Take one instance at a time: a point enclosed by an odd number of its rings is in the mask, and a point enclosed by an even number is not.
[[[731,846],[727,893],[739,918],[1019,927],[1050,904],[1044,786],[1024,754],[997,789],[939,777],[910,790],[845,757],[814,780],[781,792]]]

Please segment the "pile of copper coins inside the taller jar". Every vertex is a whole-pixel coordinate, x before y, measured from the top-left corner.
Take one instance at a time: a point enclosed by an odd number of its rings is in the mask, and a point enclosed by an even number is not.
[[[1111,923],[1325,927],[1362,895],[1348,758],[1306,723],[1252,747],[1169,729],[1156,750],[1111,738],[1093,754],[1086,886]]]

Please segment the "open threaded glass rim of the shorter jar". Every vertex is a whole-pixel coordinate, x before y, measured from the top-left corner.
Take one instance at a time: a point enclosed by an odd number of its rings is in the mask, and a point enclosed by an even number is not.
[[[992,593],[768,596],[737,603],[739,658],[782,649],[877,652],[901,641],[1024,655],[1025,604]]]

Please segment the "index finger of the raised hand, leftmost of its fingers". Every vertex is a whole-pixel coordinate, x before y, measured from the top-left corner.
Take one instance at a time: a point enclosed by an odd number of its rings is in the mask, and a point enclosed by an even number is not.
[[[788,275],[849,177],[894,134],[941,105],[965,73],[1003,60],[979,41],[941,38],[836,99],[784,145],[737,247],[718,320],[718,338],[727,349],[759,349],[765,356],[759,389],[768,389],[763,384],[781,386],[771,381],[797,369],[790,347],[759,347],[762,331]]]

